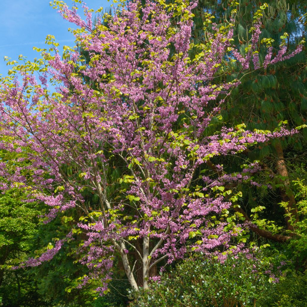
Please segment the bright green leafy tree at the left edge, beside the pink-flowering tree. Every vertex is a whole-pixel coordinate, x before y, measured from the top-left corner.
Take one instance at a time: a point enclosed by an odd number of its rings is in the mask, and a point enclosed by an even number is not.
[[[18,156],[18,154],[17,154]],[[12,154],[0,151],[0,163],[15,171],[23,163],[14,163]],[[4,162],[5,161],[5,162]],[[24,164],[26,165],[26,163]],[[0,176],[3,174],[0,174]],[[5,178],[1,178],[5,184]],[[33,250],[32,238],[37,235],[41,206],[23,202],[26,190],[17,182],[0,194],[0,298],[2,306],[47,306],[49,302],[37,293],[37,284],[29,270],[8,268]]]

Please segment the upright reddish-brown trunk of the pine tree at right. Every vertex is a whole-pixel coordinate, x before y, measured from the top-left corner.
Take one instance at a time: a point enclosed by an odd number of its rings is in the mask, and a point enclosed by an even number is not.
[[[285,213],[290,213],[294,217],[294,220],[297,222],[299,218],[297,214],[296,202],[294,199],[293,191],[290,188],[289,174],[280,141],[278,141],[277,145],[275,146],[275,150],[277,153],[277,174],[285,178],[284,181],[282,181],[284,187],[280,188],[282,200],[288,204],[287,208],[285,208]],[[288,230],[293,231],[293,225],[291,225],[289,216],[286,216],[286,223]]]

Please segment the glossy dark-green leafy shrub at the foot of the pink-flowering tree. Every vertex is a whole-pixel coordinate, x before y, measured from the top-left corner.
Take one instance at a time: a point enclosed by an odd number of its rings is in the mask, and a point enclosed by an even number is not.
[[[274,282],[270,263],[249,255],[218,260],[188,259],[164,274],[148,291],[136,293],[131,307],[254,306]]]

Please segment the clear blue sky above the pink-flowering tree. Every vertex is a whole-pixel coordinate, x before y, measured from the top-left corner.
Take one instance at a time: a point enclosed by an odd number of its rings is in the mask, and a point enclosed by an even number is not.
[[[65,21],[56,10],[49,6],[50,0],[1,0],[0,10],[0,74],[6,75],[9,69],[3,60],[4,56],[17,60],[22,54],[33,60],[39,53],[33,51],[33,46],[45,48],[45,38],[48,34],[54,35],[63,45],[73,46],[74,37],[68,28],[76,26]],[[85,0],[87,6],[94,10],[100,6],[110,7],[107,0]],[[67,0],[68,6],[72,5]],[[80,9],[80,14],[82,14]],[[46,47],[47,48],[47,47]],[[47,48],[48,49],[48,48]]]

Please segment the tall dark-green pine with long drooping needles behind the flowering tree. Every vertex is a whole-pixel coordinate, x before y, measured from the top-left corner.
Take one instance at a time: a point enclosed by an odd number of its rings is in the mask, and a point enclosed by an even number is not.
[[[205,11],[215,14],[219,23],[229,22],[231,10],[235,4],[235,36],[234,44],[240,47],[241,54],[245,54],[247,42],[251,34],[247,29],[253,22],[253,15],[261,6],[258,1],[238,0],[230,1],[207,1],[200,2],[198,8],[198,20],[195,23],[195,37],[197,40],[205,39],[204,33],[199,30],[200,19]],[[266,41],[272,47],[273,56],[278,52],[283,43],[289,52],[297,46],[304,37],[306,22],[304,13],[306,5],[304,1],[268,1],[267,10],[263,11],[262,34],[260,40]],[[268,38],[272,38],[269,40]],[[259,44],[260,46],[260,44]],[[255,65],[263,65],[265,62],[265,48],[259,47],[259,62]],[[250,63],[250,74],[241,80],[241,85],[232,91],[227,99],[227,104],[221,111],[223,122],[230,126],[244,122],[251,130],[273,129],[280,122],[286,122],[289,127],[295,128],[303,125],[307,118],[307,70],[306,49],[295,57],[275,64],[270,68],[261,68],[254,71],[254,63]],[[241,78],[241,64],[229,61],[230,72],[227,80]],[[216,125],[220,125],[216,121]],[[215,129],[212,126],[212,129]],[[278,189],[277,202],[288,203],[285,214],[291,213],[295,220],[298,219],[297,208],[293,192],[290,187],[287,159],[295,153],[299,156],[304,153],[307,141],[307,130],[303,129],[301,134],[295,137],[274,140],[264,146],[248,152],[251,159],[260,159],[262,166],[266,168],[271,176],[274,176],[274,187]],[[249,204],[255,206],[257,196],[249,192]],[[289,216],[286,217],[287,229],[293,230]]]

